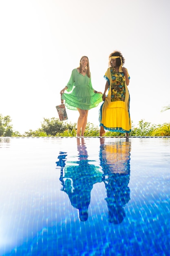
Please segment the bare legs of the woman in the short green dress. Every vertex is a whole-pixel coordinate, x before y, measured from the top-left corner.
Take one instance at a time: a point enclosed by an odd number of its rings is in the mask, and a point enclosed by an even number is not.
[[[86,129],[86,124],[87,124],[88,110],[83,110],[80,108],[77,108],[77,110],[79,112],[79,118],[77,121],[77,137],[79,137],[81,129],[82,129],[81,136],[84,136],[84,131]]]

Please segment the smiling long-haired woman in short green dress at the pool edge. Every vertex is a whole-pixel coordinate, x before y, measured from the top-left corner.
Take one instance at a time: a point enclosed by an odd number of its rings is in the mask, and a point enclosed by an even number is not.
[[[66,93],[64,91],[70,92]],[[102,92],[93,89],[91,72],[87,56],[82,56],[79,67],[72,70],[70,80],[61,90],[62,99],[68,109],[78,110],[77,137],[84,136],[87,124],[88,110],[98,106],[102,102]]]

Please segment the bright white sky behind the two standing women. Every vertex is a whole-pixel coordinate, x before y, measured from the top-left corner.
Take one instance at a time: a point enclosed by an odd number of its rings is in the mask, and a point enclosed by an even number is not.
[[[169,0],[0,0],[0,114],[21,134],[57,117],[60,90],[83,55],[104,91],[108,56],[122,52],[137,126],[170,122]],[[88,121],[99,125],[99,106]],[[67,110],[68,122],[78,111]]]

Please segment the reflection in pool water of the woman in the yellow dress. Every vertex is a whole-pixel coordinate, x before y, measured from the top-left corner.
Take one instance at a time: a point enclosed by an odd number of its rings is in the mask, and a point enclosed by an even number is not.
[[[107,191],[108,219],[119,224],[126,216],[124,207],[130,200],[130,141],[107,144],[105,139],[100,138],[99,158]]]

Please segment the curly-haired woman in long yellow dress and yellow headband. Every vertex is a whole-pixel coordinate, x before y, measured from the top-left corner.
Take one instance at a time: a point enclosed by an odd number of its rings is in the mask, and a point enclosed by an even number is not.
[[[130,95],[127,86],[130,76],[123,67],[125,62],[121,52],[115,51],[109,55],[109,67],[104,75],[106,79],[103,101],[99,113],[100,136],[105,130],[111,132],[124,132],[126,137],[131,131],[129,112]],[[108,90],[108,95],[106,92]]]

